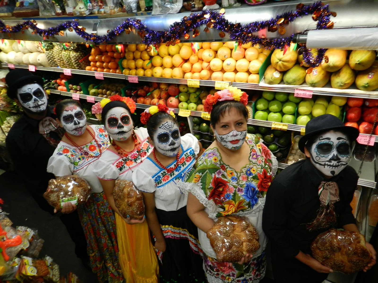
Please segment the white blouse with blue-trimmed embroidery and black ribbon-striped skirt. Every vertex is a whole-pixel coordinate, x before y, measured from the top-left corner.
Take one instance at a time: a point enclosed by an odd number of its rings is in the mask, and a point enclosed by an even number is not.
[[[202,250],[197,227],[186,214],[187,194],[178,186],[195,163],[200,147],[192,134],[181,137],[181,154],[166,168],[147,157],[133,172],[140,191],[155,193],[156,215],[166,241],[166,251],[158,251],[160,282],[204,282]]]

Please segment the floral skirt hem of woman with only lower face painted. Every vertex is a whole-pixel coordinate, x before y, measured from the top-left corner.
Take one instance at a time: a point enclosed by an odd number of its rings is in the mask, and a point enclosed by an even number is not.
[[[258,283],[265,276],[265,251],[243,265],[219,262],[204,255],[203,267],[209,283]]]

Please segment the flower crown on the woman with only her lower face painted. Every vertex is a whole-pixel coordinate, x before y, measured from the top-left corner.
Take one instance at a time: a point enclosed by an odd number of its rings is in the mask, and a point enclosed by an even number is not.
[[[210,113],[213,106],[219,101],[225,100],[235,100],[240,101],[244,105],[248,103],[248,95],[245,91],[241,91],[235,86],[229,86],[228,88],[223,89],[222,91],[217,91],[214,95],[209,94],[206,97],[205,103],[203,105],[204,111]]]

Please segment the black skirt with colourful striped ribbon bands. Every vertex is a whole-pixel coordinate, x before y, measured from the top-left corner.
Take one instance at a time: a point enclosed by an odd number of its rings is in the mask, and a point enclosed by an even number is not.
[[[198,230],[186,206],[177,211],[156,209],[156,215],[166,241],[166,251],[158,252],[160,282],[206,282]]]

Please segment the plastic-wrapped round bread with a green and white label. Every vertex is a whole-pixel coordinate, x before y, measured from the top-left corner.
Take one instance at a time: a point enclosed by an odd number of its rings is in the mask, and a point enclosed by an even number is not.
[[[78,175],[68,175],[51,179],[43,197],[57,211],[62,210],[61,200],[71,198],[72,203],[85,203],[91,194],[87,181]]]

